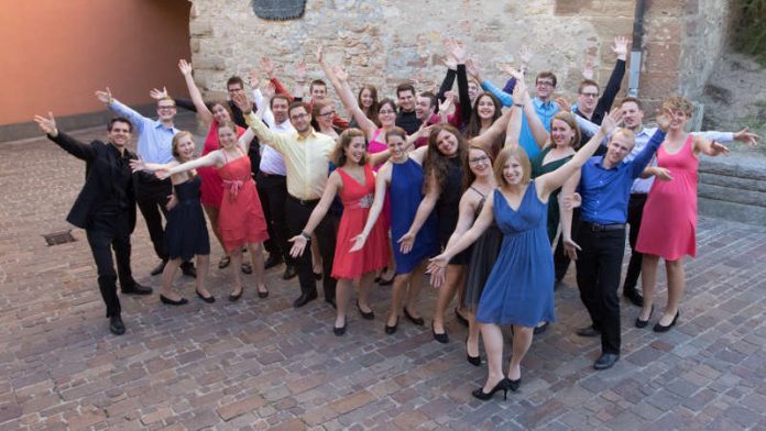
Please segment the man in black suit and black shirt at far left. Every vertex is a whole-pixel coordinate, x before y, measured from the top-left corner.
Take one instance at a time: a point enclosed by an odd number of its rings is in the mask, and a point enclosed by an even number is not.
[[[125,118],[109,122],[108,143],[85,144],[61,133],[53,114],[35,115],[40,130],[73,156],[86,162],[85,185],[66,220],[85,229],[98,269],[98,287],[107,306],[109,330],[116,335],[125,332],[120,318],[117,279],[123,294],[150,295],[152,289],[139,285],[130,270],[130,234],[135,228],[135,194],[130,161],[136,158],[125,148],[133,125]],[[117,258],[117,274],[111,250]]]

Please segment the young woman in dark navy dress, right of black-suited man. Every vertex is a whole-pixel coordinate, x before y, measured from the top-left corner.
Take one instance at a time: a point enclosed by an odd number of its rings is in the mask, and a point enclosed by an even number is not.
[[[195,144],[189,132],[178,132],[173,136],[173,157],[176,162],[166,165],[132,161],[133,172],[149,169],[169,169],[195,158]],[[183,306],[188,301],[173,291],[173,278],[182,262],[197,257],[197,296],[205,302],[215,302],[216,298],[205,288],[210,264],[210,240],[203,207],[199,203],[201,178],[194,169],[174,174],[173,198],[167,205],[167,225],[165,228],[165,246],[169,261],[162,272],[162,292],[160,300],[169,306]]]

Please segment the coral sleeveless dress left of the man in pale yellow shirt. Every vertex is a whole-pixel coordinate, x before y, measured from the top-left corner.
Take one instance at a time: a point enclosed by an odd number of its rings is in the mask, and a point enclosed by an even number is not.
[[[239,146],[237,148],[242,152]],[[226,153],[222,154],[226,159]],[[218,169],[223,185],[218,229],[226,251],[231,252],[248,243],[266,241],[269,232],[255,181],[250,172],[250,157],[242,153],[242,157],[226,162],[226,165]]]

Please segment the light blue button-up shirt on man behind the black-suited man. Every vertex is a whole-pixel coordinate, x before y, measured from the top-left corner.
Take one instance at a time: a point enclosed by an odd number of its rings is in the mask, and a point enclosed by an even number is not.
[[[118,115],[130,120],[139,132],[136,150],[139,156],[147,163],[173,162],[173,136],[178,133],[176,128],[166,128],[161,122],[147,119],[131,108],[113,100],[109,108]]]

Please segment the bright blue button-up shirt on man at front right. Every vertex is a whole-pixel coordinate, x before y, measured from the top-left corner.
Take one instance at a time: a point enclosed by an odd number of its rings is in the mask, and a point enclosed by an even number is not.
[[[665,132],[658,129],[633,161],[623,161],[611,169],[603,166],[603,156],[591,157],[586,162],[578,189],[582,196],[582,221],[598,224],[625,223],[633,180],[644,172],[663,141]]]

